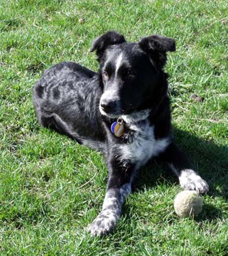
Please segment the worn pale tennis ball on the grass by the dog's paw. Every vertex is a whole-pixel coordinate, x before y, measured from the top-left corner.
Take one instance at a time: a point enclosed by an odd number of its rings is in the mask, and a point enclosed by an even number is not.
[[[174,199],[174,209],[181,218],[189,215],[198,215],[203,208],[203,202],[195,190],[184,190],[177,194]]]

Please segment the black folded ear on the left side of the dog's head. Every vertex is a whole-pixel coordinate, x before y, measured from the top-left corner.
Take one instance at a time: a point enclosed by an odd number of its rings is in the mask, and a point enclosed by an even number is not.
[[[94,39],[90,52],[96,50],[96,54],[99,57],[103,54],[104,50],[109,45],[121,44],[126,42],[123,35],[118,34],[115,31],[108,31],[100,37]]]

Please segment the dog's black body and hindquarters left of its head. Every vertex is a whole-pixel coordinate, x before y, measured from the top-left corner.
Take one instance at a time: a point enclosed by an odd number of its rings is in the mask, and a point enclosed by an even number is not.
[[[96,80],[95,72],[74,62],[61,62],[46,70],[33,87],[39,123],[80,144],[102,141],[97,122],[100,89]]]

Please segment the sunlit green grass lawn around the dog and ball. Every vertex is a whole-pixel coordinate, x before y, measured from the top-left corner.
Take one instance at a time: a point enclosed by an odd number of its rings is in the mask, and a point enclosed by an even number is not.
[[[0,2],[1,255],[227,255],[226,16],[225,0]],[[116,232],[93,238],[85,227],[101,210],[103,157],[40,127],[31,88],[62,60],[97,70],[88,51],[109,29],[129,41],[175,38],[166,66],[174,133],[210,193],[197,219],[179,219],[177,179],[152,165],[141,171]],[[196,103],[193,93],[204,101]]]

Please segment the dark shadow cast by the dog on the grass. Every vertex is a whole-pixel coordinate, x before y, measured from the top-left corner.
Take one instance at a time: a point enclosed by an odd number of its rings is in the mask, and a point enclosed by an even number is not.
[[[174,128],[173,132],[177,145],[188,155],[193,169],[210,186],[207,200],[204,200],[204,210],[196,220],[212,220],[222,217],[221,209],[215,207],[210,201],[218,197],[228,199],[228,148],[216,145],[213,141],[197,138],[179,129]],[[137,193],[145,187],[154,187],[158,182],[167,183],[167,185],[179,183],[178,178],[167,166],[155,161],[142,168],[133,191]],[[127,212],[126,215],[128,215]]]

